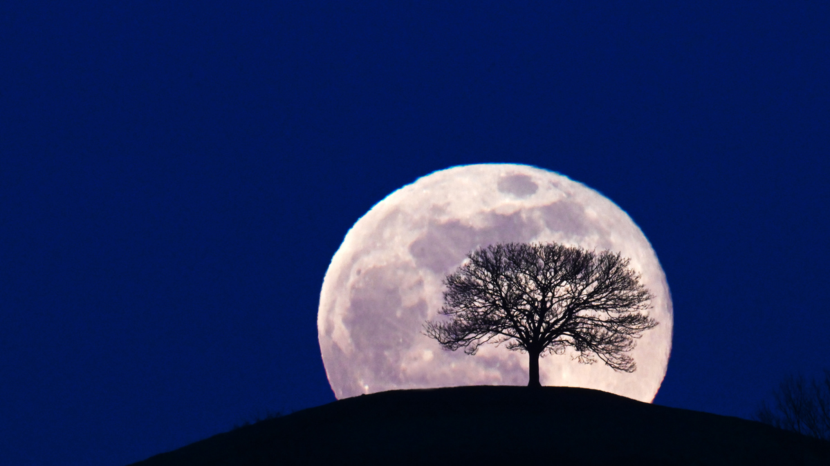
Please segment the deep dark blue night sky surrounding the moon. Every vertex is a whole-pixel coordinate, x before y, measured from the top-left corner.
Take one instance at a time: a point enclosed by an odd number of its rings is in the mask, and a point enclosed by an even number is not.
[[[827,2],[288,3],[0,3],[8,464],[334,400],[331,256],[458,164],[561,172],[642,228],[675,306],[656,403],[746,417],[830,367]]]

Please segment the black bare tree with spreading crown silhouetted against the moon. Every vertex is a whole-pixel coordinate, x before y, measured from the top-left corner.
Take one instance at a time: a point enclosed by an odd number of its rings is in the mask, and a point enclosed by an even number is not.
[[[490,245],[467,255],[444,280],[439,314],[425,333],[444,349],[476,354],[486,342],[505,342],[530,357],[528,386],[540,386],[539,358],[576,351],[615,371],[635,371],[625,354],[634,339],[657,326],[644,312],[652,294],[620,254],[558,244]]]

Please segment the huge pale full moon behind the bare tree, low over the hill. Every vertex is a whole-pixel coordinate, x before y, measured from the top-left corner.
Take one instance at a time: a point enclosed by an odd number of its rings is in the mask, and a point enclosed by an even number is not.
[[[423,334],[443,304],[444,277],[496,243],[579,245],[631,260],[654,295],[657,328],[629,353],[632,373],[572,357],[540,359],[544,386],[579,386],[651,402],[666,376],[672,308],[666,275],[640,228],[608,198],[559,173],[512,164],[434,172],[361,217],[334,254],[317,316],[326,375],[338,399],[412,388],[527,385],[528,355],[483,345],[442,350]],[[569,350],[570,351],[570,350]]]

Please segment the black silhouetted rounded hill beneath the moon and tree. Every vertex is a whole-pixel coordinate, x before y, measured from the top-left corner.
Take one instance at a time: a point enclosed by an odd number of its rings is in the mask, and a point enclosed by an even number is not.
[[[830,443],[569,387],[385,391],[264,420],[134,466],[830,464]]]

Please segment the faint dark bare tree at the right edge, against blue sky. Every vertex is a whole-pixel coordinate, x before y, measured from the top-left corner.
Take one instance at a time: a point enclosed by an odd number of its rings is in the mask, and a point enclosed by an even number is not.
[[[830,371],[824,378],[789,376],[773,392],[774,401],[762,402],[754,420],[779,429],[830,440]]]

